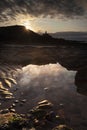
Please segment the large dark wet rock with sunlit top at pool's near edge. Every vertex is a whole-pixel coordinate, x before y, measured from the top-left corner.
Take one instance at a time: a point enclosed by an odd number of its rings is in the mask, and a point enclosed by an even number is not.
[[[29,118],[33,121],[35,126],[39,126],[44,124],[44,120],[46,118],[50,118],[53,120],[55,118],[55,114],[51,111],[53,104],[50,103],[48,100],[43,100],[38,103],[36,107],[29,111]],[[51,111],[51,112],[50,112]],[[47,116],[47,117],[46,117]]]

